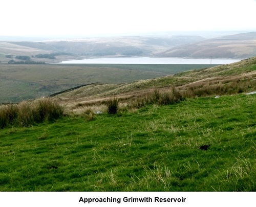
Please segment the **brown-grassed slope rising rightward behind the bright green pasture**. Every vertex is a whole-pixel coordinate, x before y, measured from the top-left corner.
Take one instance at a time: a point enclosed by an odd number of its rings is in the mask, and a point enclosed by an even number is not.
[[[96,99],[100,102],[100,98],[113,95],[126,102],[127,99],[138,97],[147,90],[161,88],[162,91],[168,91],[172,86],[176,86],[190,98],[253,91],[256,90],[256,58],[132,83],[93,84],[59,94],[56,98],[68,107],[75,108],[78,103],[84,105],[92,100],[96,102]]]

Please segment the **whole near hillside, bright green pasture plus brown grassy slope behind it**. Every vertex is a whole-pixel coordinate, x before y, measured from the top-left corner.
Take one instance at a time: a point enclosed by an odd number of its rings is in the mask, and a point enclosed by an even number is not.
[[[53,119],[51,99],[1,106],[0,191],[256,191],[255,71],[88,85],[57,95]]]

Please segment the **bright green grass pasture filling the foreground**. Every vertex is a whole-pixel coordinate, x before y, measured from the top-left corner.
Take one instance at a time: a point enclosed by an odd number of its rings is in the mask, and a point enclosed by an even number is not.
[[[2,129],[0,191],[256,191],[255,100],[187,99]]]

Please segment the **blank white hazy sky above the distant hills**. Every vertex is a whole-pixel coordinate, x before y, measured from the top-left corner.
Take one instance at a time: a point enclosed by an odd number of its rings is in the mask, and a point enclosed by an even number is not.
[[[0,36],[256,31],[255,11],[255,0],[11,0],[1,2]]]

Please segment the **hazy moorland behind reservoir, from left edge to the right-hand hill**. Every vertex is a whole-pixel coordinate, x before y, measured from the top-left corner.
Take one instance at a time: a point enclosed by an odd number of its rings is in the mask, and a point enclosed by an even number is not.
[[[79,38],[45,41],[0,41],[0,61],[8,63],[17,55],[29,55],[32,61],[56,63],[95,57],[150,57],[170,48],[204,40],[196,35],[160,35]],[[38,58],[41,54],[62,54],[56,58]],[[48,55],[49,56],[49,55]],[[49,56],[50,57],[50,56]]]

